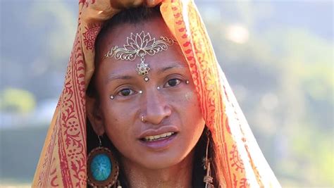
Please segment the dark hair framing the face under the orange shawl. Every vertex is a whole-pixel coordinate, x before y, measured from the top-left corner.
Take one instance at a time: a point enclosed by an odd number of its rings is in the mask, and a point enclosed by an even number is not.
[[[110,32],[113,29],[113,27],[117,27],[124,23],[130,23],[136,25],[156,17],[161,17],[159,6],[156,6],[154,8],[147,8],[147,7],[130,8],[125,11],[121,11],[120,13],[114,15],[113,18],[111,18],[110,20],[107,20],[106,23],[104,23],[104,26],[101,28],[101,31],[97,36],[97,40],[95,42],[95,49],[99,50],[97,48],[99,42],[106,36],[106,33]],[[95,58],[95,67],[97,68],[97,66],[98,66],[97,58]],[[89,83],[86,94],[89,97],[95,97],[97,101],[99,101],[97,90],[94,87],[94,75],[92,77],[91,82]],[[199,142],[197,142],[196,146],[194,147],[192,187],[205,187],[205,184],[203,182],[205,171],[203,168],[202,158],[205,156],[206,153],[206,141],[207,141],[206,132],[208,131],[209,130],[207,130],[207,128],[205,127],[204,132],[202,133],[202,136],[199,139]],[[92,129],[92,126],[89,123],[89,120],[87,119],[87,152],[89,153],[89,151],[98,146],[98,143],[99,142],[97,139],[97,135],[94,133],[94,130]],[[104,135],[104,137],[102,138],[102,144],[112,149],[113,153],[115,153],[116,158],[119,158],[120,153],[118,153],[117,149],[115,148],[115,146],[113,146],[113,144],[106,135]],[[209,151],[211,151],[211,149],[209,149]],[[215,177],[214,174],[213,177]],[[120,180],[120,184],[122,185],[123,188],[129,187],[128,180],[126,180],[126,176],[122,171],[122,168],[120,168],[120,175],[118,176],[118,180]]]

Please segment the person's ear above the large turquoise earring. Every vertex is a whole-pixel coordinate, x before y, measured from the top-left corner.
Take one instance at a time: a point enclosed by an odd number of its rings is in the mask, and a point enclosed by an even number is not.
[[[99,104],[95,97],[86,95],[86,114],[89,122],[92,124],[94,132],[101,136],[104,134],[104,121]]]

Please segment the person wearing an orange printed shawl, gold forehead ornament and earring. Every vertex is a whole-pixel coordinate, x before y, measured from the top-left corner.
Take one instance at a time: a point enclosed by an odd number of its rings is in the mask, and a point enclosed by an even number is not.
[[[279,187],[193,2],[124,2],[80,1],[33,187]]]

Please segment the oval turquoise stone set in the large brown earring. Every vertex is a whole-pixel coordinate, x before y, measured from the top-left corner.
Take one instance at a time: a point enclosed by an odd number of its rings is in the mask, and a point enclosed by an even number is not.
[[[106,154],[101,153],[95,156],[92,159],[92,163],[90,165],[90,170],[92,171],[92,175],[97,181],[104,181],[108,179],[111,175],[112,165],[111,161]]]

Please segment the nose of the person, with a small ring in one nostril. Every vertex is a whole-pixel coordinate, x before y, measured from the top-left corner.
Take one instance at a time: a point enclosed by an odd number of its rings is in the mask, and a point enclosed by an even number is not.
[[[144,120],[146,123],[159,125],[165,118],[171,115],[171,106],[158,90],[148,91],[144,101]]]

